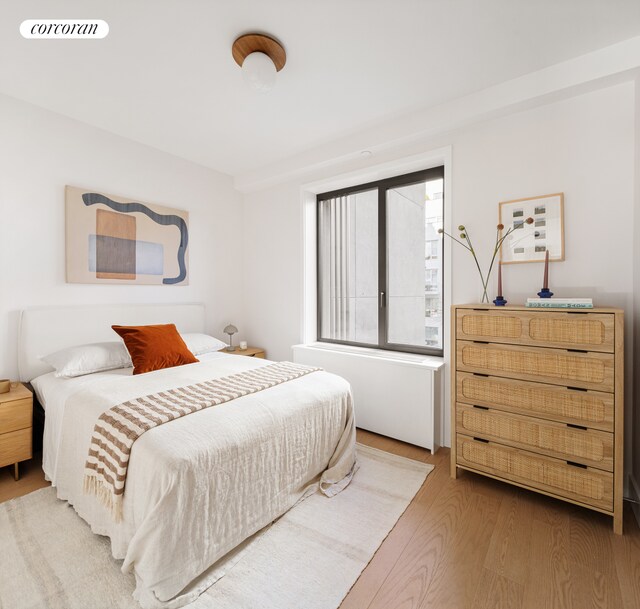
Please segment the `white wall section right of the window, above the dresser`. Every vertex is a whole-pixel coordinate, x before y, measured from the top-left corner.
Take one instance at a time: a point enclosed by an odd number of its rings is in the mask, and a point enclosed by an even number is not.
[[[564,192],[565,262],[550,266],[552,291],[593,296],[596,304],[630,310],[633,99],[633,84],[627,83],[511,115],[460,136],[453,153],[454,224],[474,230],[476,249],[488,252],[498,201]],[[454,281],[455,302],[480,295],[465,254],[455,252],[454,268],[465,279]],[[542,287],[542,264],[504,267],[503,284],[508,300],[522,302]]]

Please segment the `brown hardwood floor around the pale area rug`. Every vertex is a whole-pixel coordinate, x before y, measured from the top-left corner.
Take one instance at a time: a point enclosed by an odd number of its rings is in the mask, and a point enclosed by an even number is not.
[[[436,465],[341,609],[638,609],[640,530],[463,472],[449,451],[432,456],[359,430],[358,441]],[[0,502],[43,486],[40,456],[0,469]],[[628,506],[627,506],[628,508]]]

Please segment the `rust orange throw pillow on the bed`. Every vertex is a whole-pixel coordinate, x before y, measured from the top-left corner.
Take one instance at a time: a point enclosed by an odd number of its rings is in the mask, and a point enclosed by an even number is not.
[[[111,327],[120,335],[129,351],[134,374],[199,361],[187,349],[174,324]]]

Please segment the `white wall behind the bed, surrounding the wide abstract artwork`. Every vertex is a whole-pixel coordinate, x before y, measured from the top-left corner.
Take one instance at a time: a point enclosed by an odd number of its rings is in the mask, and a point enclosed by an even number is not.
[[[65,283],[65,184],[188,210],[189,285]],[[16,378],[29,306],[204,302],[212,334],[243,334],[241,226],[229,176],[0,96],[0,377]]]

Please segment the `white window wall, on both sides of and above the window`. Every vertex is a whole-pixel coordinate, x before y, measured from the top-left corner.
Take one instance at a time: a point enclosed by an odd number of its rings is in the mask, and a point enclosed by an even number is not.
[[[341,171],[451,145],[448,211],[454,226],[464,223],[471,231],[485,264],[499,201],[564,192],[566,260],[551,267],[552,290],[558,296],[593,296],[596,304],[631,313],[633,124],[634,86],[623,83],[390,148],[366,162],[352,156]],[[319,169],[304,182],[336,173]],[[302,184],[300,179],[245,195],[247,331],[274,359],[291,358],[291,345],[301,339]],[[453,302],[478,302],[482,290],[468,252],[454,247],[452,268]],[[542,265],[512,265],[503,279],[505,297],[522,302],[541,287]],[[629,315],[629,365],[632,326]],[[448,426],[448,413],[444,417]],[[630,424],[627,433],[630,439]]]

